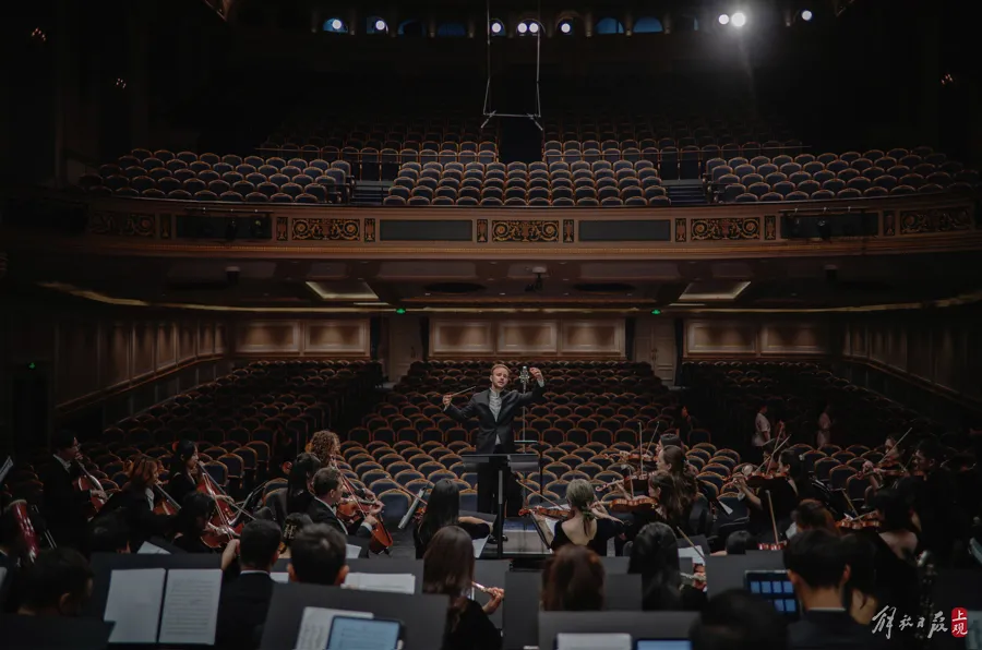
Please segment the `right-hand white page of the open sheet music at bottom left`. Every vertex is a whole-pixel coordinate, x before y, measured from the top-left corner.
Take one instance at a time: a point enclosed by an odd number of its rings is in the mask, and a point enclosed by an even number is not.
[[[215,645],[221,569],[170,569],[160,616],[160,643]]]

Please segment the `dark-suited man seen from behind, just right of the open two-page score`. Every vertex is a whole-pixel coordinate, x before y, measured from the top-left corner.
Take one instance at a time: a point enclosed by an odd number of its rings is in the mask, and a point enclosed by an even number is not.
[[[279,557],[279,527],[256,519],[242,528],[239,542],[241,571],[221,586],[215,647],[228,650],[258,648],[256,629],[266,621],[273,599],[274,580],[270,576]]]

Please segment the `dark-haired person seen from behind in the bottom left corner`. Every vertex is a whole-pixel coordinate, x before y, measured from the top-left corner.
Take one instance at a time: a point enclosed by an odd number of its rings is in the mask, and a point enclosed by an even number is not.
[[[43,551],[23,574],[17,614],[79,616],[92,595],[92,568],[74,549]]]

